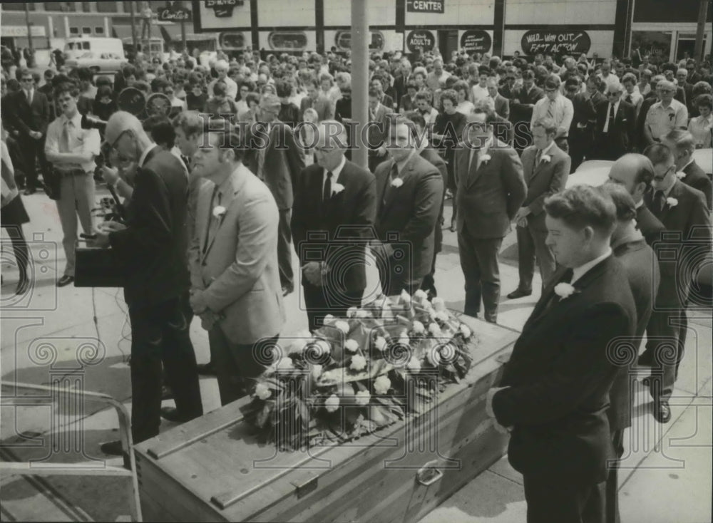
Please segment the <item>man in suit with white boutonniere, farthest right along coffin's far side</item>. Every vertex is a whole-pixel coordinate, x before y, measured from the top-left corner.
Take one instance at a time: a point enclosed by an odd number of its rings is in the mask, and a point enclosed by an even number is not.
[[[535,259],[540,266],[543,289],[555,272],[555,255],[546,244],[545,198],[560,192],[567,184],[570,157],[555,143],[557,124],[540,118],[533,126],[533,145],[523,151],[523,172],[528,194],[515,215],[518,234],[518,288],[509,299],[533,294]]]

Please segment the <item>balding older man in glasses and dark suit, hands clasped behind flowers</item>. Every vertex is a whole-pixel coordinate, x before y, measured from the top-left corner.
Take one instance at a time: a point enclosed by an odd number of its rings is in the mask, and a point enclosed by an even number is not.
[[[366,288],[364,247],[372,239],[376,217],[376,180],[344,157],[344,125],[322,120],[315,138],[317,163],[299,175],[292,212],[312,331],[322,326],[327,314],[344,316],[349,307],[361,305]]]

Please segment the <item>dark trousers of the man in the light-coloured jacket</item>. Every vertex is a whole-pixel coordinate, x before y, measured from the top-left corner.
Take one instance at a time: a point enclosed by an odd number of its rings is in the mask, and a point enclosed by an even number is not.
[[[227,405],[247,395],[251,381],[265,371],[269,363],[267,346],[277,343],[277,336],[257,343],[232,343],[219,325],[208,331],[210,361],[218,378],[220,405]]]

